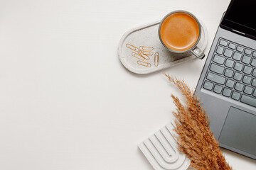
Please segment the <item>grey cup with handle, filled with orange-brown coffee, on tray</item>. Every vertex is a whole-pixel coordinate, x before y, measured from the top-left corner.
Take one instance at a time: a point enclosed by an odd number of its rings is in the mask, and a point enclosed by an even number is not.
[[[196,16],[188,11],[168,13],[159,24],[159,39],[170,52],[195,55],[203,59],[205,54],[198,47],[202,29]]]

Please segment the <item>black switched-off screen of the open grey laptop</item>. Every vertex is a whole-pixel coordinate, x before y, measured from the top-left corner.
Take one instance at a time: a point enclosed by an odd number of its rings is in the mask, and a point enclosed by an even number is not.
[[[255,0],[232,0],[220,26],[256,38],[255,9]]]

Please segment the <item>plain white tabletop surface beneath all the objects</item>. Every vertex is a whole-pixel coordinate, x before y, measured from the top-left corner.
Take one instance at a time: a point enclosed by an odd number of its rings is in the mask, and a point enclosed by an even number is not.
[[[129,28],[191,11],[209,45],[229,0],[0,0],[0,169],[152,169],[139,142],[172,119],[161,72],[124,69]],[[196,87],[206,60],[164,72]],[[223,149],[234,169],[256,161]]]

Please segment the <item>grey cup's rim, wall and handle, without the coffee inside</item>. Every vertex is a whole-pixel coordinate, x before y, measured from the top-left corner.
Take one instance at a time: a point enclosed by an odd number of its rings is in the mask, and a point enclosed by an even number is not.
[[[177,50],[173,50],[169,47],[167,47],[160,35],[160,29],[161,29],[161,25],[164,22],[164,20],[171,16],[174,13],[187,13],[188,15],[192,16],[196,22],[198,23],[199,26],[199,36],[198,36],[198,40],[196,41],[196,43],[190,47],[188,50],[182,50],[182,51],[177,51]],[[189,56],[189,55],[195,55],[196,57],[198,57],[199,59],[203,59],[203,57],[205,57],[206,55],[203,53],[203,50],[201,50],[201,48],[198,47],[198,43],[203,39],[202,36],[202,26],[201,23],[198,21],[198,18],[196,18],[196,16],[194,16],[192,13],[188,12],[188,11],[182,11],[182,10],[178,10],[178,11],[172,11],[171,13],[168,13],[166,16],[164,16],[164,18],[161,20],[161,23],[159,24],[159,39],[161,41],[161,43],[164,45],[164,47],[166,47],[167,50],[169,50],[170,52],[173,52],[175,54],[178,54],[180,56]]]

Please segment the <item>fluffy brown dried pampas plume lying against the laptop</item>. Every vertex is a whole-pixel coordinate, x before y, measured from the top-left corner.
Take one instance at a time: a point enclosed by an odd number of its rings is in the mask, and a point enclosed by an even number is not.
[[[180,89],[185,96],[185,104],[174,95],[174,104],[177,107],[176,132],[178,134],[178,150],[191,159],[194,169],[232,169],[225,161],[218,141],[210,131],[209,118],[202,108],[200,99],[194,96],[193,90],[183,80],[166,77]]]

